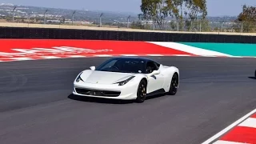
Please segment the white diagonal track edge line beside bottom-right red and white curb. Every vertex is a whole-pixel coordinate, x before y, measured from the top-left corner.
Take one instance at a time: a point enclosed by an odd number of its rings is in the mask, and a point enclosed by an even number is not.
[[[232,129],[234,126],[238,126],[239,123],[241,123],[242,121],[244,121],[246,118],[249,118],[250,115],[256,113],[256,109],[252,110],[250,113],[246,114],[245,116],[243,116],[242,118],[238,119],[236,122],[232,123],[230,126],[227,126],[224,130],[218,132],[218,134],[215,134],[213,137],[209,138],[206,140],[206,142],[202,142],[202,144],[208,144],[210,142],[213,142],[215,139],[219,138],[220,136],[222,136],[223,134],[225,134],[227,131],[229,131],[230,129]]]

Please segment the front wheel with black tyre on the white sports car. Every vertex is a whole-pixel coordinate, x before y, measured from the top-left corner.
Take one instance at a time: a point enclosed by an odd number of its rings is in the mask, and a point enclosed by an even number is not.
[[[142,79],[141,82],[138,84],[138,90],[137,90],[137,98],[136,102],[142,103],[146,99],[146,81]]]

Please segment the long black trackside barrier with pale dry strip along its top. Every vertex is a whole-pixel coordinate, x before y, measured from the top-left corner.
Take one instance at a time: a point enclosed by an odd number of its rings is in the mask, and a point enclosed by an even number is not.
[[[6,24],[0,23],[0,38],[256,43],[256,34],[251,33],[177,32],[90,26]]]

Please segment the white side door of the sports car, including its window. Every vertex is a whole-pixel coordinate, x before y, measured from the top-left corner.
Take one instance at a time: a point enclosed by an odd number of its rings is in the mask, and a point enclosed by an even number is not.
[[[149,61],[146,63],[146,71],[147,71],[148,76],[154,70],[158,70],[158,69],[159,69],[159,67],[158,67],[157,63],[155,63],[153,61]],[[161,71],[160,71],[160,74],[155,74],[155,75],[149,76],[148,84],[147,84],[147,93],[152,93],[156,90],[162,89],[163,82],[164,82],[164,77],[161,74]]]

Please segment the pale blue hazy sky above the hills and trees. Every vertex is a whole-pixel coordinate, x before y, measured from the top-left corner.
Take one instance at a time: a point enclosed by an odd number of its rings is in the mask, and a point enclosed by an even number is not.
[[[140,13],[141,0],[0,0],[0,3],[26,6],[43,6],[74,10],[107,10]],[[256,6],[256,0],[206,0],[208,16],[237,16],[242,5]]]

